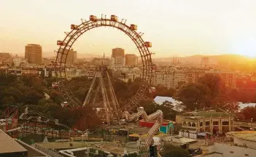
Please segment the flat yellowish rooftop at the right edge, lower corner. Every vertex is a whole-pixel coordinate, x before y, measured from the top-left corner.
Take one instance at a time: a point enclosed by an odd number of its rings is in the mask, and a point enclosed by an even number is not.
[[[233,135],[239,139],[256,142],[256,131],[228,132],[227,135]]]

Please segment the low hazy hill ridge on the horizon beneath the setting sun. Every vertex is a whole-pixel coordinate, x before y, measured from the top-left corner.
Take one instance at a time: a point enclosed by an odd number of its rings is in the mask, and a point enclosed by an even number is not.
[[[246,63],[248,61],[256,60],[243,55],[192,55],[188,57],[177,57],[181,63],[201,63],[202,57],[209,57],[209,64],[217,63]],[[156,63],[170,63],[172,57],[153,58],[153,62]]]

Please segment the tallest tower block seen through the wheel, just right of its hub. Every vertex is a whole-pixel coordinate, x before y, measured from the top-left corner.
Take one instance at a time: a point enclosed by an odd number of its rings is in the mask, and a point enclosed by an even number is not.
[[[112,49],[111,63],[115,67],[125,66],[125,50],[121,48]]]

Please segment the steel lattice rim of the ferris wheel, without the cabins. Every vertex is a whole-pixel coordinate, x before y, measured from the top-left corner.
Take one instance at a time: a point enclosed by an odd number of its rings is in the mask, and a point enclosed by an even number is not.
[[[126,20],[125,20],[126,22]],[[61,82],[61,86],[59,86],[59,89],[61,91],[62,96],[71,100],[74,105],[77,106],[82,106],[81,102],[74,97],[74,94],[72,93],[68,79],[66,76],[66,59],[67,55],[69,54],[69,51],[77,39],[79,39],[79,36],[82,36],[83,33],[90,31],[93,28],[99,28],[99,27],[112,27],[112,28],[117,28],[120,31],[123,31],[125,35],[129,36],[130,39],[133,41],[133,43],[136,45],[137,49],[139,49],[139,54],[141,56],[141,62],[142,62],[142,80],[146,84],[141,84],[139,87],[138,91],[136,92],[135,95],[131,98],[131,101],[128,102],[125,107],[120,108],[120,110],[131,110],[134,106],[137,106],[136,103],[138,103],[142,98],[144,93],[147,91],[147,85],[152,84],[152,58],[151,58],[151,53],[148,47],[146,47],[146,42],[144,41],[140,33],[137,33],[136,30],[131,29],[131,27],[127,24],[123,23],[123,20],[121,22],[113,21],[111,19],[107,18],[98,18],[96,20],[88,20],[88,21],[82,21],[81,24],[76,25],[76,29],[71,29],[69,33],[66,33],[66,37],[63,39],[64,45],[60,45],[58,48],[57,56],[55,59],[55,78],[58,82]],[[133,24],[131,24],[133,25]],[[63,49],[63,52],[61,52],[61,49]],[[65,54],[66,51],[66,54]],[[64,62],[63,61],[63,55],[66,55]],[[58,66],[58,61],[61,61]],[[63,68],[63,69],[62,69]],[[62,73],[64,73],[64,78],[62,78]],[[58,74],[60,74],[60,77],[58,77]],[[65,79],[65,81],[60,81],[61,79]],[[62,88],[62,89],[61,89]],[[136,98],[137,97],[137,98]],[[65,99],[66,100],[66,99]]]

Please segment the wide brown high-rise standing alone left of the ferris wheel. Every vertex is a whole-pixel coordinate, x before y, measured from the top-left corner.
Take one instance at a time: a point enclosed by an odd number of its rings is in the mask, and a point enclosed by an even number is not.
[[[25,47],[25,58],[28,59],[28,63],[41,64],[42,47],[39,44],[28,44]]]

